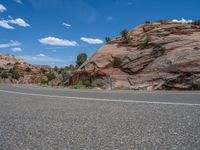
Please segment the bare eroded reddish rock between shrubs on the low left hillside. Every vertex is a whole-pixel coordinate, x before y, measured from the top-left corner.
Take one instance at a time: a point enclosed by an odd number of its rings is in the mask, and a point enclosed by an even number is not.
[[[47,81],[48,79],[44,74],[50,72],[50,68],[36,67],[13,55],[0,55],[0,68],[7,71],[14,69],[23,74],[18,81],[14,79],[1,79],[0,83],[37,84],[41,83],[41,81]]]

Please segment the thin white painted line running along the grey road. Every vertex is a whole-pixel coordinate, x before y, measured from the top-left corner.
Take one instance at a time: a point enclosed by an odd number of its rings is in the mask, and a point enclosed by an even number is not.
[[[115,99],[99,99],[99,98],[86,98],[86,97],[70,97],[70,96],[58,96],[58,95],[45,95],[45,94],[34,94],[34,93],[23,93],[16,91],[6,91],[0,90],[0,92],[28,95],[28,96],[40,96],[49,98],[63,98],[63,99],[76,99],[76,100],[86,100],[86,101],[102,101],[102,102],[119,102],[119,103],[141,103],[141,104],[160,104],[160,105],[182,105],[182,106],[200,106],[200,104],[192,103],[172,103],[172,102],[154,102],[154,101],[137,101],[137,100],[115,100]]]

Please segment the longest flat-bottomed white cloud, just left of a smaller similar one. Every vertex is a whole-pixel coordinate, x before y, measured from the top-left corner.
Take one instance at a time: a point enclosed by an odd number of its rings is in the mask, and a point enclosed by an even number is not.
[[[76,41],[69,41],[69,40],[63,40],[56,37],[46,37],[43,39],[38,40],[40,43],[45,45],[53,45],[53,46],[76,46]]]

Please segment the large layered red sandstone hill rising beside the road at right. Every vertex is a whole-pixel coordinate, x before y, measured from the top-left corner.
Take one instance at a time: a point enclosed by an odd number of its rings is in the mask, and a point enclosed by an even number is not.
[[[200,89],[200,26],[145,23],[97,50],[71,78],[102,88]]]

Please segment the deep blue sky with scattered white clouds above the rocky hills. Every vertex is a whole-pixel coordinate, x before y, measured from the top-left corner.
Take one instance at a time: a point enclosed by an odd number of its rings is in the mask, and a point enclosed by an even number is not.
[[[199,0],[0,0],[0,53],[32,64],[74,64],[106,36],[145,21],[200,19]]]

